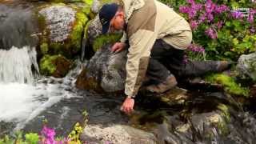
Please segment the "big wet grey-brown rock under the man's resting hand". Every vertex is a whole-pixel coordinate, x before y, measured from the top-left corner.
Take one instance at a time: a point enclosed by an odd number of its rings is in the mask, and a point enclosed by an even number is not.
[[[126,53],[127,51],[123,50],[113,54],[110,45],[102,47],[78,75],[76,86],[80,89],[108,93],[124,90]]]

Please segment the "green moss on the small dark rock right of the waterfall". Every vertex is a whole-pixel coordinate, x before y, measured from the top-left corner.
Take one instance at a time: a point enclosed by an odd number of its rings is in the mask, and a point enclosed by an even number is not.
[[[54,66],[53,61],[58,58],[60,55],[45,55],[40,60],[40,73],[45,75],[52,75],[54,74],[54,71],[56,70],[56,67]]]

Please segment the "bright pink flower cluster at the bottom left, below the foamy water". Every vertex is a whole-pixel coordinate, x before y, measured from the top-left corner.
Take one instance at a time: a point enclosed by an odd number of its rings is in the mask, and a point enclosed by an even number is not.
[[[43,126],[41,134],[45,139],[44,144],[55,144],[54,136],[55,136],[55,130],[50,129],[47,126]]]

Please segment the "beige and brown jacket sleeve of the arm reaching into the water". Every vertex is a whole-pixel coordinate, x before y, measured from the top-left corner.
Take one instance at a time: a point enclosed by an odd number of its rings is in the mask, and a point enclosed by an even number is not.
[[[130,48],[126,62],[125,94],[135,96],[145,77],[150,50],[157,38],[151,30],[137,30],[129,38]]]

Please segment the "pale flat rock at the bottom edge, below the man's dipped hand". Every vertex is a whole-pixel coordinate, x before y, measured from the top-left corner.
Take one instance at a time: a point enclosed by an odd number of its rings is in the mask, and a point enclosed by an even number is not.
[[[130,126],[109,124],[108,126],[88,125],[82,134],[85,142],[140,144],[157,143],[154,134]]]

